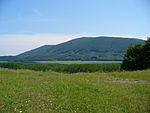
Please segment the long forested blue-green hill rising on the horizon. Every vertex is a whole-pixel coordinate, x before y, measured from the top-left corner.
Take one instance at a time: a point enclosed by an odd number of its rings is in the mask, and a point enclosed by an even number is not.
[[[7,61],[45,60],[122,60],[126,49],[144,40],[119,37],[82,37],[58,45],[45,45],[14,57],[0,57]]]

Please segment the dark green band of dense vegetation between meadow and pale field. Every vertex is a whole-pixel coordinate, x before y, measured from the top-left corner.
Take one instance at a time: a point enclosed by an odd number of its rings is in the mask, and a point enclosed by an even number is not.
[[[102,64],[54,64],[54,63],[0,63],[0,67],[8,69],[30,69],[36,71],[52,70],[64,73],[78,72],[113,72],[120,70],[120,63]]]

